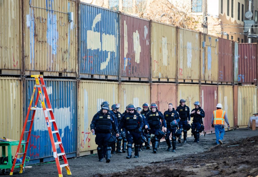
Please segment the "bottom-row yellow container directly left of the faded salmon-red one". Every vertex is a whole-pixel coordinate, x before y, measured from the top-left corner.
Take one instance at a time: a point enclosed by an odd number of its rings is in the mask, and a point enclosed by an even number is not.
[[[142,107],[143,103],[150,104],[150,84],[126,82],[119,85],[120,112],[124,112],[128,104]]]

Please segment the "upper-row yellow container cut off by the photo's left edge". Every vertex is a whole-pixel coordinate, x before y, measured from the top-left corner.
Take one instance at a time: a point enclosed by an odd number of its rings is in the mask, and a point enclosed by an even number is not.
[[[0,75],[22,74],[21,0],[0,2]]]

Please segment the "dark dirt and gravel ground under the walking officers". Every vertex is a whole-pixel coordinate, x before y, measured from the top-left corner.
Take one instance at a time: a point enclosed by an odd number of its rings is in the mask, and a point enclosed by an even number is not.
[[[72,176],[256,176],[258,175],[258,131],[236,129],[226,132],[223,145],[216,145],[215,134],[200,137],[200,143],[176,144],[176,152],[166,152],[160,143],[158,153],[143,149],[138,159],[127,153],[112,154],[111,162],[98,162],[92,154],[68,160]],[[253,142],[254,141],[254,142]],[[238,145],[231,146],[230,145]],[[134,152],[133,152],[134,153]],[[9,172],[7,170],[7,172]],[[63,176],[67,175],[65,168]],[[7,174],[9,175],[9,173]],[[2,176],[7,176],[2,175]],[[58,176],[55,162],[32,165],[25,173],[15,169],[13,176]]]

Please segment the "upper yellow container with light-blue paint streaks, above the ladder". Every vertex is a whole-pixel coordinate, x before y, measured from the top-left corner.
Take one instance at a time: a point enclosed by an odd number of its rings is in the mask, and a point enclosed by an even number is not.
[[[22,3],[24,74],[77,77],[76,1]],[[73,13],[72,19],[68,12]]]

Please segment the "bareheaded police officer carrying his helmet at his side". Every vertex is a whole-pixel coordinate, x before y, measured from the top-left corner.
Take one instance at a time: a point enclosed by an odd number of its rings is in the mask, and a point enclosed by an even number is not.
[[[168,145],[167,151],[170,151],[170,148],[171,148],[169,136],[170,134],[172,134],[172,147],[173,147],[172,152],[175,152],[177,124],[179,123],[180,118],[179,118],[178,112],[175,110],[175,108],[173,108],[172,103],[168,104],[168,110],[164,112],[164,118],[167,123],[167,132],[165,133],[166,134],[165,140]],[[171,123],[173,120],[176,120],[176,124],[174,126],[171,126]]]

